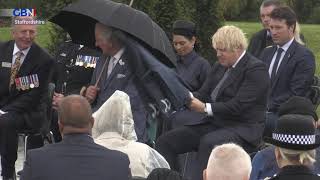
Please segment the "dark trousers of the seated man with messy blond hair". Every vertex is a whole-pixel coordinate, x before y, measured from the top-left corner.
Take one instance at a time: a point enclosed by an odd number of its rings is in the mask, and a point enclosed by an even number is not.
[[[221,128],[210,122],[184,126],[168,131],[156,142],[157,151],[170,164],[171,169],[178,170],[176,158],[179,154],[198,151],[198,168],[193,172],[193,179],[202,179],[208,158],[216,145],[233,142],[242,146],[244,141],[231,129]]]

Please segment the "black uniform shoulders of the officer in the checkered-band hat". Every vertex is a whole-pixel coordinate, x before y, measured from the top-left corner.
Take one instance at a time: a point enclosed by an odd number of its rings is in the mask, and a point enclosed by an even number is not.
[[[320,177],[306,166],[285,166],[270,180],[320,180]]]

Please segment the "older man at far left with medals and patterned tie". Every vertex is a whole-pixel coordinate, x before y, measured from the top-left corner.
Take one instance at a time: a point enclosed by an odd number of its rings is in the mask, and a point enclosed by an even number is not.
[[[16,17],[13,22],[30,22]],[[1,175],[12,179],[17,159],[17,130],[39,131],[46,118],[45,98],[54,61],[33,41],[36,25],[13,24],[14,41],[0,45],[0,154]]]

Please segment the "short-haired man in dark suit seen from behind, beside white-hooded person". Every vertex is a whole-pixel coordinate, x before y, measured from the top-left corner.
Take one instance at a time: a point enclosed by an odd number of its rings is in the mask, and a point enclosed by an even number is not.
[[[63,98],[58,107],[62,141],[28,151],[22,180],[129,180],[129,158],[95,144],[94,119],[88,101],[79,95]]]

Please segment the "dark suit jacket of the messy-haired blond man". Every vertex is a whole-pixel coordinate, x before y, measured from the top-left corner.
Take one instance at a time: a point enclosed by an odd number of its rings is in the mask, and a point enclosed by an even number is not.
[[[210,95],[225,71],[225,67],[216,63],[210,78],[194,93],[201,101],[211,103],[213,112],[212,118],[200,119],[198,123],[210,121],[222,128],[230,128],[246,142],[257,145],[264,128],[269,90],[266,66],[246,53],[222,84],[216,102],[212,102]]]

